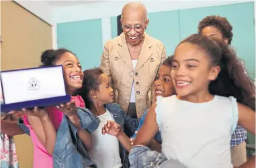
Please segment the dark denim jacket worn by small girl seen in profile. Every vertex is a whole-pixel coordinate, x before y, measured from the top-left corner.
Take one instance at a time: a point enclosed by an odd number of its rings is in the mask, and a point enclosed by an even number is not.
[[[105,104],[105,108],[109,110],[114,116],[114,120],[116,123],[120,124],[122,126],[122,129],[124,130],[124,133],[126,135],[133,135],[133,133],[136,131],[138,127],[138,123],[140,122],[140,119],[134,119],[128,115],[126,115],[126,112],[122,110],[119,104],[117,103],[109,103]],[[128,136],[129,137],[129,136]],[[129,159],[128,159],[128,152],[123,147],[121,143],[120,145],[120,157],[122,159],[122,167],[128,168],[129,167]]]

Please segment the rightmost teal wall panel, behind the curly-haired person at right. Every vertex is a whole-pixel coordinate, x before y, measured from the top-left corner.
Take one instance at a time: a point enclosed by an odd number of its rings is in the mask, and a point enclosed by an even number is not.
[[[196,33],[198,23],[207,15],[226,17],[233,27],[232,47],[245,60],[250,76],[255,78],[255,25],[253,2],[179,11],[181,39]]]

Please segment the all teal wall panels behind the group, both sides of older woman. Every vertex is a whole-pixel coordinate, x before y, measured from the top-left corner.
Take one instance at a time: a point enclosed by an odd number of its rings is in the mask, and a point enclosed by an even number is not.
[[[167,55],[173,54],[183,38],[197,33],[198,23],[207,15],[221,15],[230,21],[234,37],[232,46],[239,58],[245,60],[250,76],[255,78],[255,23],[253,2],[196,9],[148,13],[146,33],[163,41]],[[117,18],[111,17],[112,38],[118,35]],[[77,54],[83,70],[99,66],[102,54],[101,19],[60,23],[57,25],[58,48]],[[249,134],[249,142],[255,136]]]

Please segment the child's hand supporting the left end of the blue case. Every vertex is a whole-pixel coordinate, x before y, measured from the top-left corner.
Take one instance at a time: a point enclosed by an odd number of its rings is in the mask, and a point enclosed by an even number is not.
[[[39,118],[43,118],[48,113],[45,108],[34,107],[33,110],[29,110],[28,108],[22,108],[22,110],[13,110],[9,112],[9,114],[14,114],[16,116],[23,116],[24,114],[26,114],[30,116],[37,116]]]

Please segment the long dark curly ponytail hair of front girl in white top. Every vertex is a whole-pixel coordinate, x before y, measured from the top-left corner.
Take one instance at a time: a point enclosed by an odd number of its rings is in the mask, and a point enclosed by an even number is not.
[[[209,85],[211,94],[224,97],[234,96],[237,102],[255,110],[253,80],[244,73],[244,68],[232,48],[224,44],[222,40],[212,40],[201,34],[190,35],[180,44],[185,42],[199,46],[210,57],[212,66],[220,66],[218,77]]]

